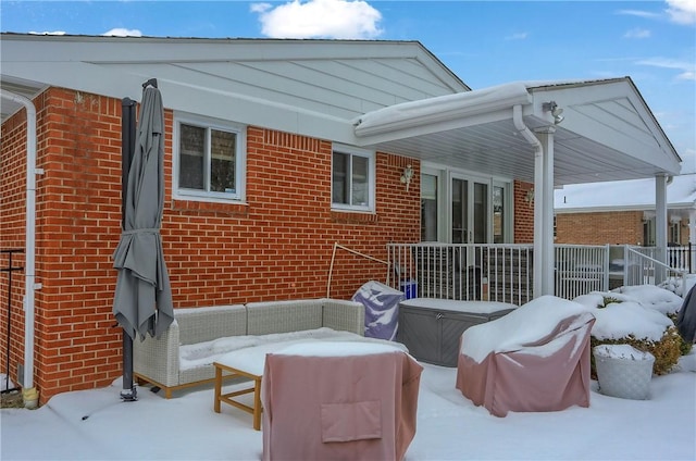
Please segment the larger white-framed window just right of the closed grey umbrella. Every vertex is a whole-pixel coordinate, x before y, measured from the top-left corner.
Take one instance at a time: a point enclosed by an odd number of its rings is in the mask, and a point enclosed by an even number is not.
[[[177,117],[174,126],[175,196],[243,200],[243,127],[196,116]]]

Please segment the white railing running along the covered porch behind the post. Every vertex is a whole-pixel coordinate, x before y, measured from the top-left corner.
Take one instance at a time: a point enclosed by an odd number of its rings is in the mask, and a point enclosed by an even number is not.
[[[658,285],[685,271],[659,262],[655,249],[555,246],[556,296],[573,299],[622,285]],[[389,244],[394,277],[407,297],[490,300],[521,306],[533,298],[532,245]],[[683,282],[683,281],[682,281]]]

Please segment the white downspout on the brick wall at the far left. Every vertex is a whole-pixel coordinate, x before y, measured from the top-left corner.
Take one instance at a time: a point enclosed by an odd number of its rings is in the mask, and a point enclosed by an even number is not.
[[[2,99],[17,102],[26,109],[26,241],[24,261],[24,382],[23,394],[36,395],[34,389],[34,290],[36,261],[36,108],[21,95],[0,92]],[[25,399],[26,400],[26,399]]]

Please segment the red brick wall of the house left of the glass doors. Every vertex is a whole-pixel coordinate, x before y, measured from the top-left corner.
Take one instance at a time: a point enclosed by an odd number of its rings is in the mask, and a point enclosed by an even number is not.
[[[41,402],[108,385],[121,375],[121,329],[112,300],[112,253],[121,234],[121,101],[50,88],[37,109],[35,374]],[[387,266],[334,244],[386,260],[386,244],[420,236],[420,163],[378,153],[376,213],[331,210],[330,140],[247,129],[247,202],[172,199],[173,114],[165,111],[166,203],[162,240],[175,308],[259,300],[348,299]],[[0,248],[25,245],[25,111],[2,124]],[[415,170],[409,190],[399,182]],[[7,265],[2,254],[0,266]],[[24,264],[23,254],[16,256]],[[8,278],[0,278],[0,299]],[[13,274],[10,374],[24,362],[24,272]],[[0,307],[7,332],[8,310]],[[3,344],[3,349],[5,345]],[[8,369],[5,356],[0,370]]]

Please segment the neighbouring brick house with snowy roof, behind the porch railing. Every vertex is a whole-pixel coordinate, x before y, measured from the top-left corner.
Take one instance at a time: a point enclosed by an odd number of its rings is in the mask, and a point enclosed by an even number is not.
[[[696,174],[667,185],[668,245],[696,244]],[[555,191],[557,244],[656,246],[655,179],[570,185]]]

